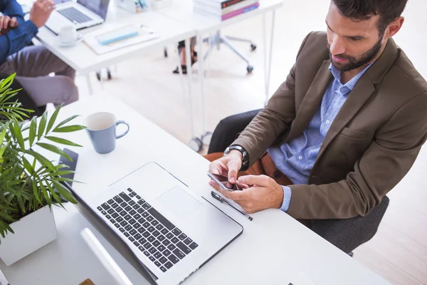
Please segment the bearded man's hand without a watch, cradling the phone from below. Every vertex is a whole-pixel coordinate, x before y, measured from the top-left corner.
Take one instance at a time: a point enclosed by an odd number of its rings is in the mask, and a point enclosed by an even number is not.
[[[283,188],[273,178],[266,175],[246,175],[238,178],[238,182],[253,185],[243,191],[224,191],[214,182],[209,182],[218,192],[234,200],[248,214],[262,211],[263,209],[280,208],[283,203]]]

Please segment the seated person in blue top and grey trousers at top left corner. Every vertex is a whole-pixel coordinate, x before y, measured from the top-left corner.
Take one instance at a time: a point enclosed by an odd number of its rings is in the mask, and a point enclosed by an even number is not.
[[[28,46],[53,9],[52,0],[37,0],[30,19],[25,21],[21,5],[16,0],[0,0],[3,14],[0,16],[0,74],[16,73],[16,81],[38,107],[47,103],[66,105],[78,100],[73,68],[43,46]],[[56,76],[48,76],[49,73]]]

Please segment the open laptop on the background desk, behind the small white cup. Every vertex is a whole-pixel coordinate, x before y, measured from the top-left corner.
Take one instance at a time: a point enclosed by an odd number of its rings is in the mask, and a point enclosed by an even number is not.
[[[56,4],[45,26],[58,34],[60,28],[67,25],[74,25],[79,30],[102,24],[109,4],[110,0],[78,0]]]

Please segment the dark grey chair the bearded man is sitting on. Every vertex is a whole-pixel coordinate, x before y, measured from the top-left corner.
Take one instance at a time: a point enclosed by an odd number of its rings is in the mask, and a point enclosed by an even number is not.
[[[212,135],[208,153],[223,152],[238,137],[238,134],[251,123],[251,120],[260,110],[231,115],[221,120]],[[320,237],[352,256],[354,249],[374,237],[388,206],[389,197],[385,196],[381,203],[371,209],[371,212],[364,217],[312,219],[310,228]]]

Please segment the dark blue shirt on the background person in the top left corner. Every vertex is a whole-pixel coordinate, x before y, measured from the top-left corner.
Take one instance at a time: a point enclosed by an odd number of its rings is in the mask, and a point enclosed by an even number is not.
[[[31,43],[31,38],[36,36],[38,28],[33,21],[23,19],[21,5],[16,0],[0,0],[0,12],[10,18],[16,17],[19,23],[17,28],[11,29],[4,36],[0,36],[0,65],[6,62],[11,54],[20,51]]]

